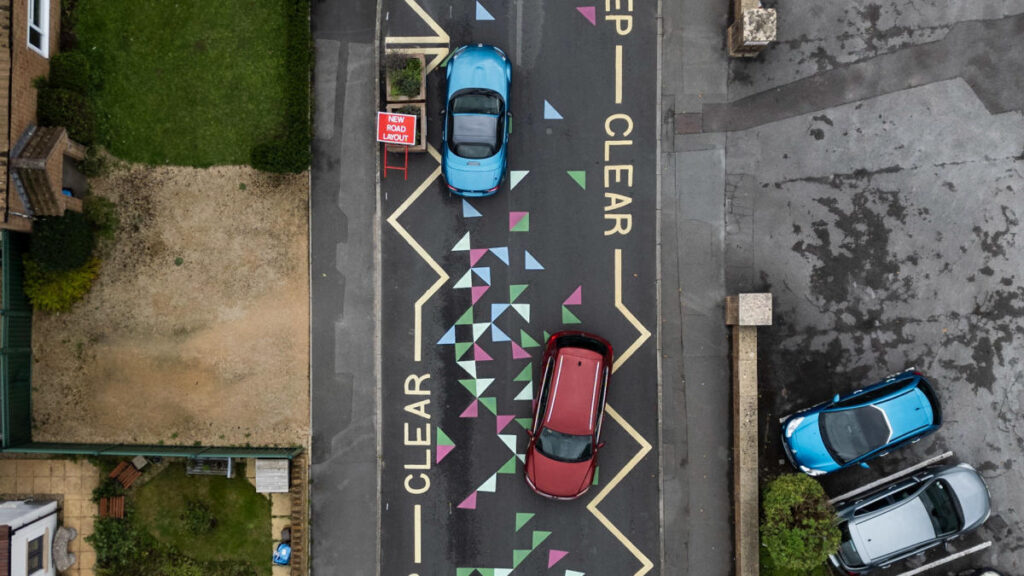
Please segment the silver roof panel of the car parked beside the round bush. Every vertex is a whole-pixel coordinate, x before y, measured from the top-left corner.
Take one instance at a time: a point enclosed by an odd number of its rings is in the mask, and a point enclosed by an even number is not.
[[[935,527],[921,497],[883,513],[854,520],[850,536],[864,562],[871,562],[935,538]]]

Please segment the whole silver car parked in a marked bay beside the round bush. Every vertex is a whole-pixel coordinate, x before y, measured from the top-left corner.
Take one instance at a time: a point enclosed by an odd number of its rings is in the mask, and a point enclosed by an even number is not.
[[[988,520],[985,481],[970,464],[933,467],[837,505],[842,541],[830,557],[849,574],[920,553]]]

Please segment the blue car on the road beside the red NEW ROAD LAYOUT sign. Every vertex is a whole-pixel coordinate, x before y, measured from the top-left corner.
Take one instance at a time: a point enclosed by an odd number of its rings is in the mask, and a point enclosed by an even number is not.
[[[447,64],[441,173],[460,196],[498,192],[508,164],[512,64],[494,46],[463,46]]]

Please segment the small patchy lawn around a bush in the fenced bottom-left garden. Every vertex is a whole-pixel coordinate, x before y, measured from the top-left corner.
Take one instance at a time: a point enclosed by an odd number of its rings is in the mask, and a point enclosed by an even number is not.
[[[209,505],[217,519],[210,532],[195,535],[185,528],[181,513],[188,499]],[[270,574],[270,500],[245,478],[187,477],[183,464],[172,464],[139,489],[135,509],[140,526],[187,557],[245,561],[258,574]]]

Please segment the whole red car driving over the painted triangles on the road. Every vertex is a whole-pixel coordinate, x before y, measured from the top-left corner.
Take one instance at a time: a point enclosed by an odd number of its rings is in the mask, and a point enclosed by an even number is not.
[[[579,498],[590,488],[601,442],[611,344],[586,332],[558,332],[544,349],[526,448],[526,483],[541,496]]]

